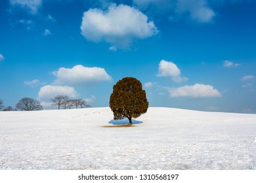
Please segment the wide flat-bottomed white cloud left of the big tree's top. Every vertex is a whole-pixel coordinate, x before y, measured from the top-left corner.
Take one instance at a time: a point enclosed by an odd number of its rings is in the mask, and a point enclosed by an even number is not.
[[[96,82],[112,80],[105,69],[84,67],[83,65],[75,65],[71,69],[60,67],[58,71],[53,72],[53,75],[56,76],[54,81],[56,85],[87,86]]]

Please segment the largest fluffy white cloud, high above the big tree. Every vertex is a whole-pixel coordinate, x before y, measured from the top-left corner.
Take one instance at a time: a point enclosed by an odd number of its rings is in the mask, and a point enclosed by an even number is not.
[[[115,4],[103,11],[98,8],[83,13],[81,34],[89,41],[106,41],[112,48],[127,49],[134,39],[145,39],[158,33],[154,22],[139,10]]]

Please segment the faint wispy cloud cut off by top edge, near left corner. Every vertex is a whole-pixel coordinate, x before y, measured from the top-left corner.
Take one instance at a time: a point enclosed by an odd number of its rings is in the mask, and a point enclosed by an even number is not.
[[[38,8],[41,7],[42,0],[10,0],[11,5],[17,5],[30,10],[31,14],[37,14]]]

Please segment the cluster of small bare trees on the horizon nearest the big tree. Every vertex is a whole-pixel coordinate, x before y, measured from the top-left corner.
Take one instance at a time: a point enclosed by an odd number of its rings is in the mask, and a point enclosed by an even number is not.
[[[57,106],[58,109],[60,107],[66,109],[66,108],[85,108],[85,107],[91,107],[90,105],[87,105],[87,101],[84,99],[69,99],[67,95],[57,95],[53,99],[51,99],[52,106]]]

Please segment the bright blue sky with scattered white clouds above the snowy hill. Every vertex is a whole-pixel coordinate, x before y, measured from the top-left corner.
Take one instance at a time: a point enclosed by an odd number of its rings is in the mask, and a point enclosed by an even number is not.
[[[106,107],[125,76],[150,107],[256,113],[256,2],[3,0],[0,99]]]

